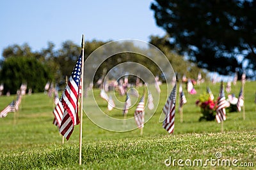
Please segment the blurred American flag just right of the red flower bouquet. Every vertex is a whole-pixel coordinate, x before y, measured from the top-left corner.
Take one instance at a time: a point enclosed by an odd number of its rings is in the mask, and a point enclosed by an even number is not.
[[[221,82],[220,86],[220,97],[218,98],[218,106],[216,109],[216,120],[218,123],[226,120],[226,110],[227,101],[225,99],[224,86],[223,82]]]

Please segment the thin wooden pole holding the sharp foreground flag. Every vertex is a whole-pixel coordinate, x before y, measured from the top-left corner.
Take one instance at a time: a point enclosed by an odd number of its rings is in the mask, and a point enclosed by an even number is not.
[[[81,100],[80,100],[80,135],[79,135],[79,165],[81,166],[82,164],[82,130],[83,130],[83,76],[84,76],[84,34],[82,37],[82,63],[81,63]]]

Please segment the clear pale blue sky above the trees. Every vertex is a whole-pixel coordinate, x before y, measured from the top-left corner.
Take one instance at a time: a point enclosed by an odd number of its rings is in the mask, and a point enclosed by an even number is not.
[[[38,51],[51,41],[107,41],[163,36],[150,10],[153,0],[3,0],[0,1],[0,58],[9,45],[28,43]]]

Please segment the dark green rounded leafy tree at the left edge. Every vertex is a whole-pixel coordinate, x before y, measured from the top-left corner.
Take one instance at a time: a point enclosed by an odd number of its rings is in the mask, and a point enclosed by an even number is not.
[[[33,92],[43,92],[52,75],[41,62],[32,57],[8,57],[0,71],[0,81],[4,83],[4,93],[15,94],[22,83],[27,83]]]

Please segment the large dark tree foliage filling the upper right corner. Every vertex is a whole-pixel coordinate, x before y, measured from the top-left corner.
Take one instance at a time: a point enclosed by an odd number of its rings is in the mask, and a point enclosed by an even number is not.
[[[199,67],[230,74],[248,62],[255,74],[256,1],[155,0],[150,8],[170,36],[166,45]]]

